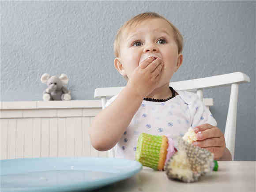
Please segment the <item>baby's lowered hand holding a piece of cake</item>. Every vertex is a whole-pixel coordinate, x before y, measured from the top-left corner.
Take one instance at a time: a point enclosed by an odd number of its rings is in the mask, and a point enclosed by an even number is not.
[[[193,143],[194,145],[211,151],[215,159],[223,156],[226,143],[219,128],[211,124],[201,124],[195,127],[195,133],[197,133],[197,141]]]

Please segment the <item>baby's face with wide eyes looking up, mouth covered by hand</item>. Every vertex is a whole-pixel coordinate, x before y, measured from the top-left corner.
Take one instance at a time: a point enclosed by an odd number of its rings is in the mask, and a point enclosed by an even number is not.
[[[164,61],[159,86],[168,83],[173,73],[181,66],[182,55],[173,37],[173,29],[161,18],[147,19],[136,27],[124,30],[120,42],[120,57],[115,66],[128,79],[139,63],[148,56],[157,56]]]

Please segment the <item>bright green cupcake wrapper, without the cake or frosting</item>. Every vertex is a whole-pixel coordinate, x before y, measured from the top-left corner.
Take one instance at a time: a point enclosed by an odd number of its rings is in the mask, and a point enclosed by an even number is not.
[[[162,136],[140,134],[136,147],[136,161],[157,170],[161,145]]]

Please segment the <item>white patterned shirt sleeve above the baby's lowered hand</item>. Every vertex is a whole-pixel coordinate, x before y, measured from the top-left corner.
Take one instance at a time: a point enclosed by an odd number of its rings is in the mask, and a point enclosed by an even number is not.
[[[201,124],[211,124],[217,126],[215,118],[210,110],[203,104],[200,98],[195,93],[187,92],[189,103],[191,127],[196,127]]]

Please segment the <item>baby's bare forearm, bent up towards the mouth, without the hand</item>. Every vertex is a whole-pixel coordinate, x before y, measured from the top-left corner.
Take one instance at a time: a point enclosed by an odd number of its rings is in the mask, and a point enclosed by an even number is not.
[[[113,148],[124,134],[142,101],[141,96],[125,87],[115,101],[95,117],[89,130],[92,146],[98,151]]]

